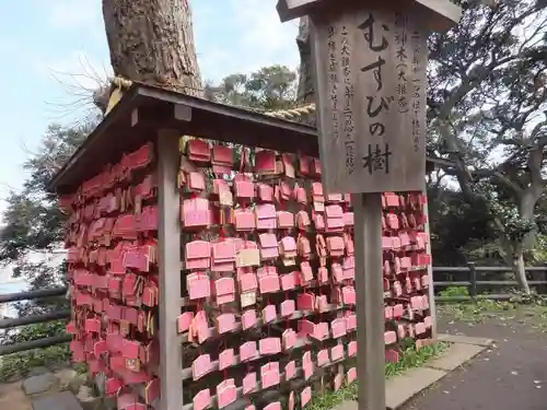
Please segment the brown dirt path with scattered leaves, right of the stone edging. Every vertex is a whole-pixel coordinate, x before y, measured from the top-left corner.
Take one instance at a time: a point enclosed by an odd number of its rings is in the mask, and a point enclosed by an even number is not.
[[[403,410],[547,409],[547,309],[521,307],[473,316],[441,312],[439,332],[491,338],[494,347]]]

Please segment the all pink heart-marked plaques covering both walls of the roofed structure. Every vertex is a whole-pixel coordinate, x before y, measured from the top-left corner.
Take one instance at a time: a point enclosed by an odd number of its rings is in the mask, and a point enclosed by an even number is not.
[[[119,408],[160,393],[154,169],[146,145],[62,200],[73,360],[106,374]],[[184,409],[305,407],[354,380],[353,214],[322,191],[318,160],[190,140],[178,185]],[[383,196],[386,361],[430,337],[424,200]],[[266,390],[281,401],[263,406]]]

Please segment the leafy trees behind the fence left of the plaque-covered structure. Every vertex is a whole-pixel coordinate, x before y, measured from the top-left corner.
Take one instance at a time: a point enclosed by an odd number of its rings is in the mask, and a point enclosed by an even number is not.
[[[33,255],[47,255],[62,247],[66,216],[59,211],[57,199],[46,192],[51,176],[59,171],[83,142],[95,124],[77,127],[51,125],[38,147],[24,163],[28,177],[20,192],[11,192],[0,230],[0,262],[13,266],[13,276],[23,278],[30,290],[66,284],[66,263],[51,263]],[[48,297],[15,305],[21,316],[68,308],[66,297]],[[34,340],[62,332],[61,320],[11,329],[0,338],[1,344]],[[67,345],[37,349],[5,356],[0,364],[0,379],[24,374],[36,365],[69,359]]]

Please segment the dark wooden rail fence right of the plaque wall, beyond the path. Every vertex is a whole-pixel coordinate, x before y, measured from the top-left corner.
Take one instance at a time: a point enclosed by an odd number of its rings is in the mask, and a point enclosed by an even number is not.
[[[435,288],[437,302],[463,302],[472,298],[508,301],[514,296],[511,289],[517,289],[519,283],[514,278],[512,269],[508,267],[479,267],[473,262],[464,267],[434,267],[433,284]],[[526,277],[528,284],[539,294],[547,294],[547,266],[527,267]],[[440,280],[451,279],[451,280]],[[503,279],[503,280],[500,280]],[[439,295],[439,291],[449,286],[466,286],[469,295]],[[494,290],[492,292],[492,290]]]

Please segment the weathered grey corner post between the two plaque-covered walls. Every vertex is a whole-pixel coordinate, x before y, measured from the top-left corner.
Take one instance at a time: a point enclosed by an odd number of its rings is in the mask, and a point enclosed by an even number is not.
[[[181,312],[181,225],[177,172],[179,166],[177,133],[158,133],[158,187],[160,226],[160,379],[161,410],[183,408],[181,368],[183,349],[176,329]]]

